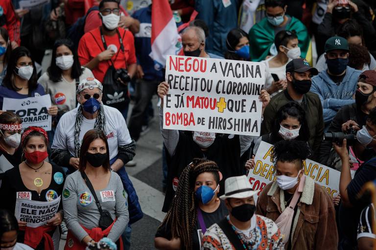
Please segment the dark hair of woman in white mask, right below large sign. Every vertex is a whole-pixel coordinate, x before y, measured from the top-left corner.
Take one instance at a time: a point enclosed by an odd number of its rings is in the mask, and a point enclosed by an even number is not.
[[[277,112],[276,119],[274,119],[274,126],[272,128],[273,138],[281,138],[279,131],[281,122],[287,117],[295,118],[300,123],[299,136],[295,140],[307,142],[309,139],[309,129],[305,119],[305,111],[303,107],[297,102],[289,102],[284,104]]]

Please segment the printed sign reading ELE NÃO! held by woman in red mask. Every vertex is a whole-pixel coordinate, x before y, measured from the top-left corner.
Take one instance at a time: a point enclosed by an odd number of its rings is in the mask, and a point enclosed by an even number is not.
[[[60,197],[48,202],[16,199],[14,214],[17,220],[26,222],[27,227],[40,227],[53,218],[58,211]]]

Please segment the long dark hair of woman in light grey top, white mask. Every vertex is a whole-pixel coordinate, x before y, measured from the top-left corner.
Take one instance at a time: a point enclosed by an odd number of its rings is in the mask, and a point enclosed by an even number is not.
[[[71,78],[72,79],[79,78],[82,75],[82,71],[83,71],[80,62],[78,61],[77,50],[74,48],[74,43],[70,39],[56,40],[52,48],[51,65],[47,69],[48,77],[54,83],[61,81],[62,69],[56,65],[56,50],[58,47],[63,46],[63,45],[67,46],[73,54]]]

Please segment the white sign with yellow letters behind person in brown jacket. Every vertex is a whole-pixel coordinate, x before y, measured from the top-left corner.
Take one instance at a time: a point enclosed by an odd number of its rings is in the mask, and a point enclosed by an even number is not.
[[[262,190],[262,188],[275,179],[275,167],[270,159],[272,148],[273,145],[262,141],[258,147],[255,155],[255,168],[251,169],[248,173],[249,182],[254,190]],[[331,197],[338,195],[340,171],[309,159],[303,162],[303,166],[305,175],[324,187]],[[259,194],[260,192],[257,195]]]

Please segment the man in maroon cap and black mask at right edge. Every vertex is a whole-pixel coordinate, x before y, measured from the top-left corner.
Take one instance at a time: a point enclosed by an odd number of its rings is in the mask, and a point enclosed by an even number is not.
[[[342,131],[344,133],[351,133],[351,130],[360,130],[366,125],[366,118],[374,107],[376,107],[376,71],[366,70],[359,76],[355,92],[355,103],[345,105],[338,111],[330,123],[328,132]],[[331,148],[331,142],[324,141],[321,144],[320,163],[329,167],[341,167],[335,166],[335,159],[333,160],[332,157],[329,157],[331,156]],[[367,160],[370,157],[369,150],[363,151],[361,149],[364,148],[357,150],[358,158],[363,161]],[[353,162],[353,164],[357,165],[359,163]],[[340,162],[338,164],[341,165]]]

